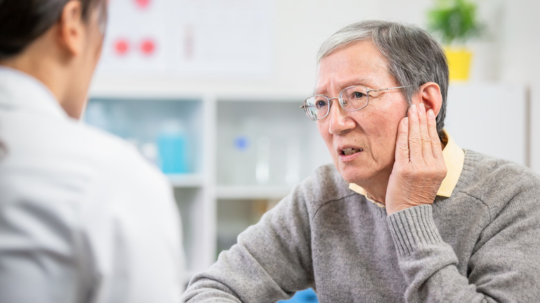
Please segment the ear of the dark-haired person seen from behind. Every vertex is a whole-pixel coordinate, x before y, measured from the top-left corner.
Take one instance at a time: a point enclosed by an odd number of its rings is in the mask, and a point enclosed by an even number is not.
[[[84,22],[81,1],[68,1],[58,20],[60,46],[70,55],[78,55],[84,48]]]

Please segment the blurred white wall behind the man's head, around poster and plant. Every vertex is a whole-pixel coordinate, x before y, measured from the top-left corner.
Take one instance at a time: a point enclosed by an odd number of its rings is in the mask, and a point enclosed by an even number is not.
[[[517,86],[540,87],[540,1],[477,0],[480,17],[487,24],[487,35],[469,44],[475,51],[471,81],[504,82]],[[362,19],[406,21],[426,24],[431,0],[276,0],[274,2],[275,42],[273,72],[264,78],[190,79],[189,77],[152,77],[152,91],[168,93],[215,93],[219,95],[284,96],[308,95],[314,86],[315,57],[318,46],[342,26]],[[247,42],[246,42],[247,43]],[[219,47],[219,46],[216,46]],[[98,77],[94,93],[145,91],[146,79]],[[539,95],[537,91],[532,95]],[[540,107],[534,99],[532,107]],[[509,106],[512,100],[508,100]],[[486,116],[486,119],[487,116]],[[524,118],[525,119],[525,118]],[[533,125],[530,136],[540,136]],[[539,155],[537,155],[539,154]],[[540,153],[530,152],[528,163],[540,163]],[[534,158],[534,159],[533,159]]]

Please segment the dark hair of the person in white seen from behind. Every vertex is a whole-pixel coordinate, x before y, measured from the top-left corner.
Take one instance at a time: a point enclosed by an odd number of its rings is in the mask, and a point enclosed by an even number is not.
[[[0,0],[0,59],[21,53],[55,24],[66,3],[73,0]],[[82,18],[105,0],[75,0],[82,3]]]

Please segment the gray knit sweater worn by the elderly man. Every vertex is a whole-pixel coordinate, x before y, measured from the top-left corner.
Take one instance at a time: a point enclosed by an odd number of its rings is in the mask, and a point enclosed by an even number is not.
[[[540,302],[540,177],[465,151],[451,197],[386,215],[319,167],[238,237],[186,302]]]

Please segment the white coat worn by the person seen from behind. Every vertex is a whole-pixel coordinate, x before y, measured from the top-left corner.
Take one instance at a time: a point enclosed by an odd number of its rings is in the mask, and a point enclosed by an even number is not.
[[[178,302],[166,178],[123,140],[0,67],[0,302]]]

